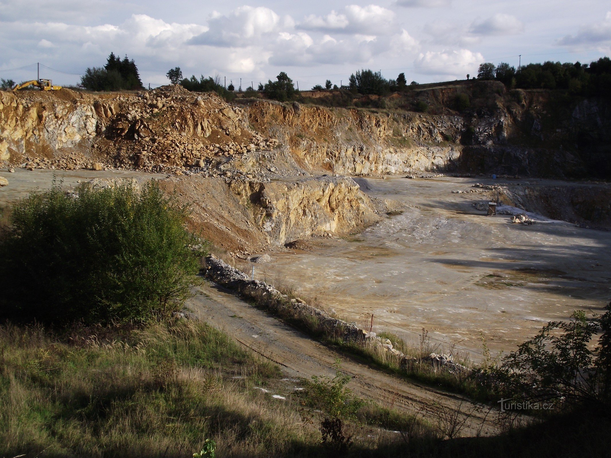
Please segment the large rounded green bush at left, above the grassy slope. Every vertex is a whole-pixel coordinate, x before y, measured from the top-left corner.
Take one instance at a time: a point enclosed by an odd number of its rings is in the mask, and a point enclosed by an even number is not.
[[[199,267],[186,208],[155,183],[59,187],[12,208],[0,241],[0,318],[62,325],[164,318]]]

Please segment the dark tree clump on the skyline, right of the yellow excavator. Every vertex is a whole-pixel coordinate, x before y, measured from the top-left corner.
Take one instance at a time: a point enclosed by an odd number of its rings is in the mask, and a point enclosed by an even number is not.
[[[133,59],[121,60],[111,53],[104,67],[87,68],[81,86],[94,91],[137,90],[142,89],[142,81]]]

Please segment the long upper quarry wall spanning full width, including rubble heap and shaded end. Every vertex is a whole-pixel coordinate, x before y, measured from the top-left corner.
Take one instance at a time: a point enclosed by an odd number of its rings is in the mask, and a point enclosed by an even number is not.
[[[456,111],[460,91],[472,103]],[[431,112],[409,111],[412,97],[428,101]],[[394,95],[387,109],[241,103],[180,86],[137,94],[0,92],[0,160],[221,176],[225,158],[239,158],[263,178],[260,153],[280,145],[298,173],[611,176],[606,100],[475,82]]]

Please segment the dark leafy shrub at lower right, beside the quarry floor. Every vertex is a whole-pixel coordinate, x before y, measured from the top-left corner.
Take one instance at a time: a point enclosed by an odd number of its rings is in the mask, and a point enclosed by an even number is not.
[[[611,407],[611,303],[598,319],[588,320],[582,311],[571,318],[545,325],[498,368],[483,371],[481,379],[503,397]],[[602,335],[593,347],[598,332]]]

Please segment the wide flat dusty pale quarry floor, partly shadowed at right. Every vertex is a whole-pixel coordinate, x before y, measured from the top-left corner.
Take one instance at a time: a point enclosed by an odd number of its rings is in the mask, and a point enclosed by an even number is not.
[[[309,251],[277,250],[273,263],[257,264],[255,278],[294,285],[362,326],[373,314],[376,332],[414,341],[425,328],[445,342],[431,343],[466,347],[475,360],[481,335],[493,354],[508,351],[546,322],[577,309],[599,313],[611,299],[610,232],[486,217],[472,206],[487,202],[482,195],[451,194],[481,178],[357,181],[370,197],[409,206],[363,233],[318,240]]]

